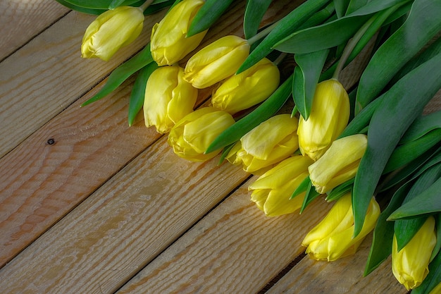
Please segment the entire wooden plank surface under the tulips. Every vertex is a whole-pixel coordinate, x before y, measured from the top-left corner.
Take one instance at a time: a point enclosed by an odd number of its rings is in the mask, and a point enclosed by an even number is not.
[[[242,36],[244,3],[201,47]],[[275,1],[263,23],[297,5]],[[54,0],[0,2],[1,293],[406,293],[390,259],[362,276],[371,236],[337,262],[304,255],[323,199],[268,218],[249,200],[253,176],[218,157],[180,159],[142,114],[129,127],[132,79],[80,108],[164,13],[104,62],[80,58],[94,16]]]

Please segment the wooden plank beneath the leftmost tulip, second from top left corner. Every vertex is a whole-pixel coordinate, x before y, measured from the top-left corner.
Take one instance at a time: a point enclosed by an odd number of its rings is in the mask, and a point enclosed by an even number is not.
[[[94,16],[71,12],[0,63],[0,157],[147,44],[154,20],[111,61],[81,59],[82,35]]]

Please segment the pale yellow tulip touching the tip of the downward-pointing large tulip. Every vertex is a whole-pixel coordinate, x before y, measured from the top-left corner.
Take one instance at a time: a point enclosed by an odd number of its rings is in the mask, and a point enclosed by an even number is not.
[[[363,134],[335,140],[323,157],[309,166],[316,191],[323,194],[354,178],[367,146],[368,137]]]

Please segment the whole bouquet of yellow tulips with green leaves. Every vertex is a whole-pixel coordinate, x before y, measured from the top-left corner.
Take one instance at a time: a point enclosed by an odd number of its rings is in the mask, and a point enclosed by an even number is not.
[[[145,16],[168,8],[150,44],[83,105],[137,74],[129,125],[143,109],[179,157],[221,153],[243,166],[258,176],[251,201],[267,216],[303,212],[319,195],[335,201],[304,238],[312,258],[354,254],[373,231],[366,275],[392,255],[408,290],[440,293],[441,112],[423,109],[441,88],[441,1],[306,0],[261,27],[272,1],[248,0],[244,35],[196,52],[232,0],[56,1],[97,15],[81,51],[104,61],[138,37]],[[368,44],[348,92],[340,72]],[[284,59],[294,60],[287,77]],[[207,87],[209,106],[194,110]]]

